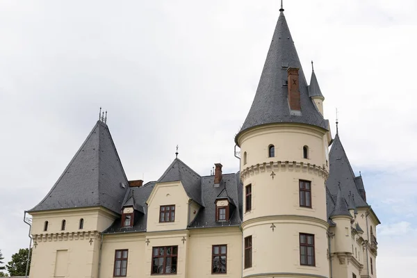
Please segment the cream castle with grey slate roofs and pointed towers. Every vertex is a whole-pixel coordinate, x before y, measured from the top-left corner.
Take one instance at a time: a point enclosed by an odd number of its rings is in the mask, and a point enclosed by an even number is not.
[[[129,181],[101,118],[29,211],[31,278],[377,277],[380,222],[324,100],[281,8],[235,138],[240,171],[201,176],[175,158],[157,181]]]

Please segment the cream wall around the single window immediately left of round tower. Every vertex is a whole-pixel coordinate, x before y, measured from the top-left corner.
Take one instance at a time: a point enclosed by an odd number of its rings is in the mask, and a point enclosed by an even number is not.
[[[194,277],[241,277],[242,232],[239,227],[191,229],[188,238],[187,276]],[[213,245],[227,245],[227,274],[211,274]]]

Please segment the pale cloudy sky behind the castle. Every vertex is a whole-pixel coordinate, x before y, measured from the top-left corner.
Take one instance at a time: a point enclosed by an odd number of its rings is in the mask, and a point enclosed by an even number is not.
[[[286,0],[378,227],[379,278],[417,271],[417,2]],[[98,118],[129,179],[174,158],[238,170],[234,135],[258,85],[278,0],[0,0],[0,249],[28,245],[24,210],[46,195]],[[334,131],[335,126],[333,124]],[[335,132],[334,132],[335,133]]]

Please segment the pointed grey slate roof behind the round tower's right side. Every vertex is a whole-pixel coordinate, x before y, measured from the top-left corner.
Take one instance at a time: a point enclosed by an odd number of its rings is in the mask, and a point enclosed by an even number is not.
[[[336,134],[332,143],[332,149],[329,152],[329,162],[329,177],[326,181],[329,192],[332,195],[336,195],[339,189],[338,184],[340,183],[345,199],[349,199],[349,195],[352,194],[354,195],[354,206],[357,208],[368,206],[359,194],[354,172],[338,134]]]

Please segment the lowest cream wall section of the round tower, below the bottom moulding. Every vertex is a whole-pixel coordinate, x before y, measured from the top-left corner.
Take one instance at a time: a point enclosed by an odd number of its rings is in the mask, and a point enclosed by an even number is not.
[[[272,231],[271,225],[275,224]],[[327,262],[327,223],[309,218],[276,216],[249,220],[243,224],[243,237],[252,236],[252,268],[243,277],[263,277],[261,273],[291,272],[329,276]],[[314,234],[316,266],[300,265],[300,233]],[[256,276],[259,274],[259,276]],[[272,275],[273,276],[273,275]],[[252,277],[252,276],[251,276]]]

